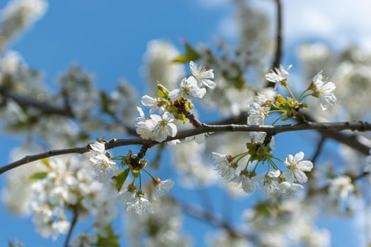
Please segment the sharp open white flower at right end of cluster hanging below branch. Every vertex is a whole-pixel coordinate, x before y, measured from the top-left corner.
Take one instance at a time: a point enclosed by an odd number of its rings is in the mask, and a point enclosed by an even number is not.
[[[294,157],[288,155],[285,159],[285,166],[288,167],[285,177],[293,183],[298,181],[300,183],[307,182],[307,176],[304,171],[311,171],[313,169],[313,163],[309,160],[302,160],[304,158],[304,152],[298,152]]]

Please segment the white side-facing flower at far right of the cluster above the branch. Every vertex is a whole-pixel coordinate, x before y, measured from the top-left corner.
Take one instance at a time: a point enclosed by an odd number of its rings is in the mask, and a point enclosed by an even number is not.
[[[336,97],[334,93],[332,93],[336,85],[327,81],[327,79],[322,76],[322,71],[319,71],[319,73],[314,76],[311,87],[313,90],[312,95],[319,98],[323,111],[327,109],[327,104],[333,105],[336,102]]]

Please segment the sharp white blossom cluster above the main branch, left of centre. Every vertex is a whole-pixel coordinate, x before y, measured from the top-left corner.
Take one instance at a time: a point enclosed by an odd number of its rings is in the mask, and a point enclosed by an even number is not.
[[[179,83],[179,88],[169,91],[158,83],[157,98],[148,95],[141,98],[143,106],[151,107],[149,118],[146,118],[141,107],[137,107],[139,117],[136,119],[136,133],[141,138],[161,143],[168,136],[177,135],[175,120],[184,122],[186,118],[184,111],[189,111],[193,107],[192,101],[185,97],[202,98],[206,94],[204,86],[210,89],[215,88],[212,69],[206,70],[204,66],[196,66],[193,61],[189,62],[189,67],[192,76],[183,78]],[[156,110],[159,114],[153,114]]]

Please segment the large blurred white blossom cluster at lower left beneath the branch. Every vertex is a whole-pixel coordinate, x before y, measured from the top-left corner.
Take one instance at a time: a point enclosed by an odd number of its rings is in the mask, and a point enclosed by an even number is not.
[[[116,217],[112,187],[95,179],[87,162],[75,157],[44,161],[45,169],[30,176],[33,179],[30,210],[33,222],[42,236],[57,239],[71,227],[66,210],[78,212],[78,218],[95,216],[94,229],[104,236]],[[77,215],[76,215],[77,216]]]

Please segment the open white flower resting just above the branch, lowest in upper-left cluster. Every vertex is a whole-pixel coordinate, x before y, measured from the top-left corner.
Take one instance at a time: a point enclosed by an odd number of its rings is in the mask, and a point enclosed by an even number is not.
[[[169,112],[165,112],[163,116],[153,114],[151,115],[151,119],[155,121],[155,127],[151,136],[152,140],[161,143],[166,140],[167,136],[174,137],[177,135],[177,126],[173,123],[174,116]]]

